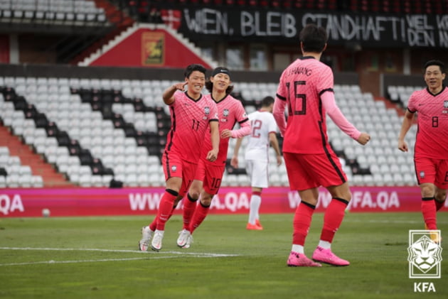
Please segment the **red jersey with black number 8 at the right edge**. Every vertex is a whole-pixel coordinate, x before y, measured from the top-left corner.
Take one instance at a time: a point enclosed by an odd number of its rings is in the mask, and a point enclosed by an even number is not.
[[[418,113],[415,157],[448,159],[448,87],[438,94],[413,92],[407,109]]]

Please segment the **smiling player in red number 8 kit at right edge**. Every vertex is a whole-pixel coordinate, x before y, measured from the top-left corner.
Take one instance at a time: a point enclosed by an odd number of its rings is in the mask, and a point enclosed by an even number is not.
[[[431,230],[437,229],[436,212],[443,207],[448,189],[448,88],[443,84],[445,75],[443,62],[426,62],[427,88],[411,94],[398,136],[398,149],[408,151],[405,136],[415,112],[418,112],[415,174],[422,193],[423,219],[427,229]]]

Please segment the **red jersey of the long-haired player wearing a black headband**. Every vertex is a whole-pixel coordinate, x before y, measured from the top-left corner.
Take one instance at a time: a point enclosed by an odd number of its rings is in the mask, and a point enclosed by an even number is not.
[[[208,99],[211,99],[213,102],[215,102],[215,100],[211,97],[211,94],[206,94],[204,97],[207,97]],[[221,99],[219,102],[217,102],[216,107],[218,109],[220,133],[224,129],[232,130],[237,122],[238,124],[242,124],[245,123],[245,121],[249,120],[247,118],[244,107],[242,107],[241,102],[238,99],[232,97],[230,94],[228,94],[224,99]],[[213,162],[207,160],[206,163],[225,165],[225,161],[227,160],[229,141],[230,138],[220,138],[218,158],[216,158],[216,160]],[[201,158],[206,159],[207,153],[211,151],[211,149],[211,134],[210,131],[207,131],[205,141],[202,146]]]

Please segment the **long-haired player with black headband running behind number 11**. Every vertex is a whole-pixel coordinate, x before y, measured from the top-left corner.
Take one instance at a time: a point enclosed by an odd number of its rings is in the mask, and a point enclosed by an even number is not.
[[[227,68],[216,67],[210,80],[206,82],[206,88],[210,92],[206,97],[213,99],[218,108],[219,154],[215,161],[207,160],[211,143],[210,134],[206,134],[195,178],[187,198],[183,200],[183,229],[177,239],[177,245],[181,248],[191,246],[194,230],[206,219],[213,196],[218,194],[225,170],[229,138],[240,138],[250,134],[250,122],[244,107],[238,99],[230,95],[233,91],[230,79],[230,71]],[[240,124],[240,129],[234,130],[236,123]]]

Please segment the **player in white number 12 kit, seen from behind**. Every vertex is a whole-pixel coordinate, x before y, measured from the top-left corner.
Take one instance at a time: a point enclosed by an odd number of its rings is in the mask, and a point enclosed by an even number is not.
[[[260,110],[249,114],[252,132],[249,135],[245,149],[245,166],[250,177],[252,195],[250,196],[249,221],[246,229],[262,230],[260,224],[260,205],[263,188],[269,185],[269,146],[272,145],[277,157],[277,166],[282,165],[282,154],[280,153],[277,140],[277,124],[272,109],[274,98],[265,97],[261,102]],[[233,157],[230,164],[238,168],[238,152],[240,151],[242,138],[239,138],[233,148]]]

